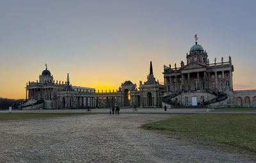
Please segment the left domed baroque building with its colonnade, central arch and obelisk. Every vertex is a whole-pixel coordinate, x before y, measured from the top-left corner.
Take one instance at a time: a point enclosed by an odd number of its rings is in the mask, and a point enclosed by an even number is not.
[[[67,74],[67,81],[54,81],[47,65],[39,82],[28,82],[26,102],[22,109],[72,109],[88,107],[162,107],[164,86],[154,78],[152,62],[147,81],[137,88],[131,81],[125,81],[119,89],[95,91],[95,88],[72,86]],[[140,89],[140,90],[138,90]]]

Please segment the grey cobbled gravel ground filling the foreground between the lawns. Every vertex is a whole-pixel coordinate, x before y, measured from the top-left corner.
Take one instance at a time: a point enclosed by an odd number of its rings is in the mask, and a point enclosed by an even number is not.
[[[255,153],[143,130],[175,115],[93,114],[0,123],[0,162],[256,162]]]

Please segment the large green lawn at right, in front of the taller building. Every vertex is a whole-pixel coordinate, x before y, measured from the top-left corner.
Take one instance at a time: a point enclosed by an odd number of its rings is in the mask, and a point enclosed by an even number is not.
[[[256,152],[256,114],[180,115],[141,128],[189,133]]]

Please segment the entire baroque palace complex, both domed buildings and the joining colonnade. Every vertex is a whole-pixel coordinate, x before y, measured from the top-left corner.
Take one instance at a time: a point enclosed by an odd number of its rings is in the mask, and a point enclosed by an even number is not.
[[[28,82],[26,102],[22,109],[72,109],[88,107],[256,107],[256,90],[235,91],[231,57],[228,61],[209,63],[208,54],[198,44],[186,54],[186,65],[180,62],[174,68],[164,65],[164,85],[153,74],[150,61],[147,81],[140,86],[125,81],[115,90],[95,90],[72,86],[67,81],[55,81],[45,65],[39,82]]]

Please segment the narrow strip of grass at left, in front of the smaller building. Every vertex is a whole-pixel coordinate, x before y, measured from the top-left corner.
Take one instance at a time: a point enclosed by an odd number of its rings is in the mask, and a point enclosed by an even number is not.
[[[1,120],[20,120],[30,118],[49,118],[60,116],[80,116],[93,113],[0,113]]]

